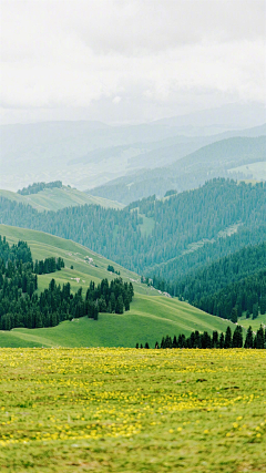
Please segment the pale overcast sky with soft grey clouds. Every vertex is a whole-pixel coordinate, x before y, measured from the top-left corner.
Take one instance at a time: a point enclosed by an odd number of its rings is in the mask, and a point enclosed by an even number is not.
[[[266,102],[264,0],[1,0],[2,123]]]

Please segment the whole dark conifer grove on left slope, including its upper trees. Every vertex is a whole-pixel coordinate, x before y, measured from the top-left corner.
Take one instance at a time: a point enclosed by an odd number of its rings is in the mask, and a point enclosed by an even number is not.
[[[99,312],[123,313],[130,310],[134,296],[132,282],[121,278],[109,284],[103,279],[98,286],[91,281],[85,298],[82,288],[71,294],[69,282],[57,285],[54,279],[38,296],[37,274],[53,273],[64,267],[62,258],[47,258],[33,264],[30,248],[25,241],[11,247],[0,236],[0,328],[11,330],[16,327],[54,327],[62,320],[88,316],[98,319]]]

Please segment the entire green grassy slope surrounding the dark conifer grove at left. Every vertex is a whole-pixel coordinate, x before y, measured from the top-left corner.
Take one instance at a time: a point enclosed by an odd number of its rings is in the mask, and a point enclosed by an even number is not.
[[[88,318],[65,321],[54,328],[14,329],[0,332],[0,347],[134,347],[136,342],[146,341],[154,346],[165,335],[188,335],[192,330],[225,331],[228,322],[209,316],[177,299],[158,296],[155,289],[140,284],[140,278],[119,265],[103,258],[90,249],[71,240],[54,237],[41,232],[0,225],[0,235],[6,235],[10,243],[24,239],[29,243],[33,258],[61,256],[65,268],[53,275],[39,276],[39,290],[48,287],[52,277],[58,282],[71,282],[73,290],[80,286],[88,287],[91,279],[99,282],[115,275],[106,270],[109,264],[119,269],[123,279],[134,280],[135,297],[130,312],[124,315],[101,313],[98,321]],[[85,256],[92,257],[98,267],[88,264]],[[74,269],[71,270],[70,266]],[[75,281],[73,278],[80,278]],[[156,297],[155,297],[156,296]]]

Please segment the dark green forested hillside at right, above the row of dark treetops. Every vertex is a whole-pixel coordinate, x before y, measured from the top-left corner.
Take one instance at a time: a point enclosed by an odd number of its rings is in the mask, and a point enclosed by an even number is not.
[[[266,312],[266,243],[247,246],[171,284],[155,276],[149,280],[214,316],[236,322],[245,312],[255,319],[258,311]]]

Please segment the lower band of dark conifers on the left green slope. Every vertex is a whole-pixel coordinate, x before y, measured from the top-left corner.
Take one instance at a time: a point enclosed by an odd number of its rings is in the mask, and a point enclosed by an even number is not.
[[[37,276],[33,276],[32,280],[34,282]],[[85,297],[82,295],[82,288],[73,295],[69,282],[61,287],[54,279],[40,296],[34,292],[35,288],[33,286],[32,290],[28,291],[28,288],[21,287],[19,271],[11,280],[3,278],[3,284],[0,284],[1,330],[16,327],[54,327],[63,320],[84,316],[98,320],[99,312],[123,313],[124,310],[130,310],[134,295],[133,286],[123,284],[120,278],[110,285],[108,279],[103,279],[98,286],[91,281]]]

